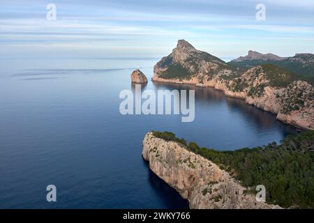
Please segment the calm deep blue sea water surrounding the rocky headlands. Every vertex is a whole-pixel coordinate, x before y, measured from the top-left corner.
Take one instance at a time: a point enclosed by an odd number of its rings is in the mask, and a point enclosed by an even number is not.
[[[195,121],[122,116],[130,73],[150,79],[157,59],[0,60],[0,208],[187,208],[141,156],[149,130],[234,150],[279,142],[296,130],[214,89],[195,89]],[[46,201],[57,186],[57,203]]]

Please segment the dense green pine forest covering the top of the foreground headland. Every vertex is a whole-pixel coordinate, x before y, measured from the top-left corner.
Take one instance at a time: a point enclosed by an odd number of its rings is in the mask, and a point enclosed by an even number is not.
[[[265,185],[269,203],[285,208],[314,208],[314,131],[289,135],[281,145],[273,142],[237,151],[200,148],[171,132],[154,132],[154,135],[178,141],[186,149],[219,164],[246,187]]]

